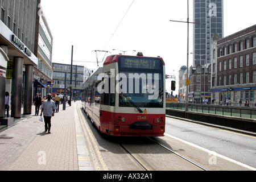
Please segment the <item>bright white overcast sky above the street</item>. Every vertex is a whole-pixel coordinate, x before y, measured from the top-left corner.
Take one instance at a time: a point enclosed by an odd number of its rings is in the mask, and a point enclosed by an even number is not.
[[[187,23],[170,20],[187,21],[186,0],[41,0],[41,6],[53,36],[53,63],[71,64],[72,46],[73,64],[94,71],[97,58],[101,62],[121,51],[160,56],[166,74],[176,77],[174,94],[178,94],[179,70],[187,65]],[[224,36],[256,24],[255,7],[255,0],[224,0]],[[189,0],[189,21],[193,22],[193,0]],[[96,56],[94,50],[109,52]],[[193,52],[193,24],[189,25],[189,52]],[[166,89],[171,92],[170,79]]]

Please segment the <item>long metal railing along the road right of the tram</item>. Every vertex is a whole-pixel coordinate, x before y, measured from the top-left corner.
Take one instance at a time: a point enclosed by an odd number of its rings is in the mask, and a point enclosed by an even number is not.
[[[183,103],[167,103],[166,108],[185,110],[185,104]],[[207,104],[189,104],[188,111],[195,111],[198,113],[218,114],[230,117],[256,119],[255,107],[242,107],[242,106],[218,106]]]

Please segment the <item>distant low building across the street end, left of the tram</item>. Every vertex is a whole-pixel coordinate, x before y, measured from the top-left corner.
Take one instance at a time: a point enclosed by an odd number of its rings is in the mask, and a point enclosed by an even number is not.
[[[82,84],[89,78],[91,71],[84,66],[72,66],[72,100],[81,100]],[[71,65],[53,63],[52,93],[70,94]]]

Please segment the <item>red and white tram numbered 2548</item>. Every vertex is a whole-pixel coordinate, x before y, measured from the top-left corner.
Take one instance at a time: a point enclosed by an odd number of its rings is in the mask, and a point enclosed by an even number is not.
[[[82,107],[101,133],[164,136],[165,76],[161,57],[108,56],[84,82]]]

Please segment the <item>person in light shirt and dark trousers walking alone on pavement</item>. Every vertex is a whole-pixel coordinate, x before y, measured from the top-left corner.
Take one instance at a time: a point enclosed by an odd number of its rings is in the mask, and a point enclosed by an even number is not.
[[[54,117],[54,113],[55,113],[55,102],[53,100],[51,100],[52,96],[51,94],[47,95],[47,100],[45,100],[41,106],[41,114],[40,116],[42,116],[42,113],[44,113],[44,128],[46,129],[45,132],[51,133],[51,118]]]

